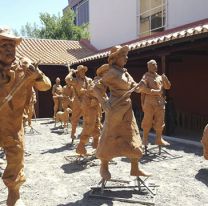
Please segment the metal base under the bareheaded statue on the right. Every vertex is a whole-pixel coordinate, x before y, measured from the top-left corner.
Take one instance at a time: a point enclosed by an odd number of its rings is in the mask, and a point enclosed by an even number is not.
[[[145,146],[144,148],[144,155],[142,157],[141,162],[147,162],[147,161],[154,161],[154,162],[160,162],[164,160],[172,160],[172,159],[178,159],[181,158],[181,155],[173,155],[167,150],[164,149],[162,146],[153,146],[148,148]]]

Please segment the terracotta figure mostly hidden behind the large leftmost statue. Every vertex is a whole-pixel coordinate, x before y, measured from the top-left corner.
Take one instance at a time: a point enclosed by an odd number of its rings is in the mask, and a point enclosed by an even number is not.
[[[29,105],[24,109],[23,114],[23,126],[26,126],[26,122],[28,122],[28,126],[31,127],[32,117],[35,114],[35,103],[37,102],[36,93],[34,88],[32,87],[32,96],[30,98]]]

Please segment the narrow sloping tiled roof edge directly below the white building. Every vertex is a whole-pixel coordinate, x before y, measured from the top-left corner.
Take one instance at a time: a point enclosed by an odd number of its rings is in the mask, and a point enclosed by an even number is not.
[[[137,41],[134,41],[133,43],[125,43],[122,45],[128,45],[129,51],[133,51],[133,50],[138,50],[144,47],[160,45],[165,42],[170,42],[173,40],[195,36],[195,35],[202,34],[202,33],[206,33],[208,35],[208,23],[200,25],[200,26],[196,26],[196,27],[182,29],[182,30],[175,31],[172,33],[166,33],[164,35],[157,36],[157,37],[150,37],[144,40],[137,40]],[[85,57],[83,59],[75,60],[74,62],[71,63],[71,65],[105,58],[105,57],[108,57],[108,55],[109,55],[109,50]]]

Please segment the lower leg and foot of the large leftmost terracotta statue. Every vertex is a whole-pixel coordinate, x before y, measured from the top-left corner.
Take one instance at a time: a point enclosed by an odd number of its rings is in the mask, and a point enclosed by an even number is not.
[[[8,189],[7,206],[25,206],[20,198],[19,189]]]

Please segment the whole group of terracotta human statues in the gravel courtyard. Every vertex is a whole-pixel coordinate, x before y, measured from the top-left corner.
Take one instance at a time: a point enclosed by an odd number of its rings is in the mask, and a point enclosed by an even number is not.
[[[28,58],[15,56],[21,38],[8,29],[0,29],[0,147],[5,151],[7,167],[3,181],[8,188],[7,205],[24,205],[20,198],[20,186],[24,176],[24,129],[26,120],[31,125],[36,103],[35,90],[47,91],[51,82]],[[110,51],[108,63],[100,66],[94,79],[86,77],[88,68],[79,65],[70,69],[62,88],[60,78],[52,87],[54,118],[71,115],[71,140],[76,136],[80,117],[83,129],[76,152],[86,155],[85,148],[93,137],[92,147],[101,160],[100,174],[104,180],[111,178],[109,161],[125,156],[131,162],[130,175],[150,176],[139,167],[143,145],[148,145],[151,128],[156,132],[155,144],[169,145],[162,138],[165,114],[164,90],[170,89],[168,78],[157,74],[155,60],[147,62],[148,71],[140,82],[135,82],[124,67],[128,60],[128,46],[116,46]],[[109,91],[109,95],[106,92]],[[144,112],[142,121],[143,139],[132,111],[131,93],[141,94]],[[20,98],[21,97],[21,98]],[[105,113],[103,125],[102,114]],[[59,114],[59,115],[57,115]],[[202,139],[204,157],[208,159],[208,129]]]

